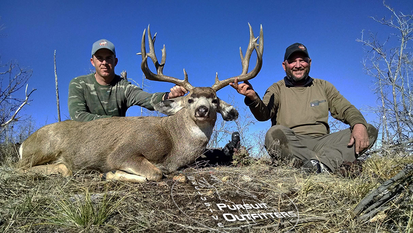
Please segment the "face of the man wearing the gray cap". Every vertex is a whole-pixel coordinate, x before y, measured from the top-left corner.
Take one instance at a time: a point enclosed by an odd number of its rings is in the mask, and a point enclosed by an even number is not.
[[[96,73],[103,77],[111,77],[115,74],[115,66],[118,64],[118,58],[107,49],[100,49],[90,58],[92,66],[95,67]]]

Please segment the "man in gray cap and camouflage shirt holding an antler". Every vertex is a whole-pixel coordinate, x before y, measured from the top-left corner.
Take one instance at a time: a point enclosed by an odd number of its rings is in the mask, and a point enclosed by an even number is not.
[[[106,39],[92,45],[90,63],[96,72],[76,77],[69,84],[69,114],[75,121],[91,121],[125,116],[126,110],[138,105],[154,110],[162,100],[185,95],[188,91],[174,86],[171,92],[147,93],[115,74],[118,64],[115,46]]]

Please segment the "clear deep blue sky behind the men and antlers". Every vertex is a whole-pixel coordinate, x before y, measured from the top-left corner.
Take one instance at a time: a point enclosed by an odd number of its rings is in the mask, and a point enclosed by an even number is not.
[[[388,0],[397,12],[412,14],[412,0]],[[239,48],[248,44],[248,22],[256,36],[264,31],[263,66],[251,81],[261,96],[285,72],[281,63],[287,46],[300,42],[307,46],[312,66],[310,76],[325,79],[357,108],[376,106],[370,90],[371,78],[364,74],[361,61],[365,55],[361,30],[378,32],[385,39],[392,32],[370,16],[390,17],[380,0],[365,1],[1,1],[1,63],[17,60],[33,69],[29,89],[37,89],[30,106],[20,115],[31,115],[38,126],[57,121],[54,88],[53,53],[56,50],[62,119],[67,119],[68,86],[72,78],[92,68],[92,43],[106,38],[116,46],[119,63],[116,73],[128,72],[138,83],[140,39],[151,24],[157,32],[155,51],[158,59],[165,44],[167,51],[164,74],[183,79],[188,72],[193,86],[211,86],[215,73],[220,79],[241,73]],[[396,38],[393,38],[396,39]],[[251,60],[250,69],[255,65]],[[151,82],[149,91],[168,91],[173,85]],[[23,93],[22,93],[23,94]],[[235,95],[238,105],[243,97],[231,87],[218,92],[227,100]],[[129,110],[139,114],[139,107]],[[367,121],[376,116],[362,112]],[[257,130],[270,122],[258,123]]]

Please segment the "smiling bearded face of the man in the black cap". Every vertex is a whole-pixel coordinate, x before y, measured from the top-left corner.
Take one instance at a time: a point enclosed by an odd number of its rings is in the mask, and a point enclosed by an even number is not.
[[[296,52],[282,63],[290,81],[297,83],[304,81],[310,73],[311,59],[304,53]]]

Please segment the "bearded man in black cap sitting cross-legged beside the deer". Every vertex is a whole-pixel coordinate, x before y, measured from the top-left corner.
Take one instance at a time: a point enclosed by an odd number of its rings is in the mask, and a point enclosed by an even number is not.
[[[271,119],[265,146],[273,159],[298,159],[317,173],[335,172],[354,162],[375,143],[378,131],[329,82],[309,76],[311,59],[301,43],[284,54],[284,79],[271,85],[262,100],[249,82],[230,85],[245,95],[245,104],[258,121]],[[328,112],[350,127],[329,133]]]

